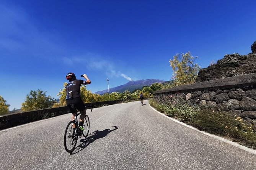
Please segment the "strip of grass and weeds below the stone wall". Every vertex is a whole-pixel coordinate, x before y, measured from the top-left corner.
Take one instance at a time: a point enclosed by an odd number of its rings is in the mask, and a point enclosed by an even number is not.
[[[199,130],[232,138],[240,144],[256,149],[256,133],[252,125],[244,122],[241,117],[234,117],[227,112],[211,109],[201,110],[199,107],[189,104],[160,104],[154,99],[150,99],[149,103],[157,111]]]

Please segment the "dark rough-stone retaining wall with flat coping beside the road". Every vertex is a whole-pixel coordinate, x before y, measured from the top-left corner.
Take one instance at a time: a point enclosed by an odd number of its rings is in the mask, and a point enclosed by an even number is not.
[[[256,73],[158,90],[153,98],[159,103],[228,111],[256,127]]]

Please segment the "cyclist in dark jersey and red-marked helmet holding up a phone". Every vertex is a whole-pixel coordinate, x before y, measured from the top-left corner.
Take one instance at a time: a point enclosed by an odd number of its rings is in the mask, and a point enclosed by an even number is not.
[[[83,119],[85,119],[86,109],[85,109],[85,104],[83,103],[80,96],[80,87],[82,84],[84,85],[91,84],[91,80],[88,79],[86,74],[83,74],[83,77],[86,79],[86,81],[77,80],[77,78],[75,77],[75,74],[72,72],[69,72],[66,75],[66,79],[69,81],[69,83],[65,86],[66,92],[67,92],[67,95],[66,95],[67,106],[68,106],[68,109],[70,109],[71,113],[73,114],[72,120],[74,120],[75,118],[77,109],[81,112],[78,128],[80,128],[80,130],[82,131],[84,131]],[[73,108],[72,105],[75,106],[75,108]],[[75,133],[75,126],[73,126],[73,129],[74,129],[73,133]]]

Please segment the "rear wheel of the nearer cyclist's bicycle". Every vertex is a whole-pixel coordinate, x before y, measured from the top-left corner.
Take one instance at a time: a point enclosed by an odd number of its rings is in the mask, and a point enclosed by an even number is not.
[[[73,124],[75,121],[70,121],[67,125],[64,135],[64,147],[67,152],[72,152],[77,144],[77,125],[75,123],[75,135],[73,135]]]

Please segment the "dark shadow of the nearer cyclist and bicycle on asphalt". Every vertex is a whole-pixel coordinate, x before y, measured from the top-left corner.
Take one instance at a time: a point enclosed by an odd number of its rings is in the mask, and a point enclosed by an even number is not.
[[[78,145],[73,152],[70,154],[76,154],[77,152],[82,151],[83,149],[86,148],[89,144],[93,143],[95,140],[104,138],[107,136],[110,132],[117,130],[118,128],[116,126],[113,126],[114,129],[105,129],[103,131],[96,130],[94,132],[91,132],[86,138],[80,138],[80,145]]]

